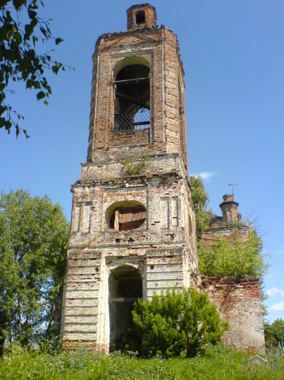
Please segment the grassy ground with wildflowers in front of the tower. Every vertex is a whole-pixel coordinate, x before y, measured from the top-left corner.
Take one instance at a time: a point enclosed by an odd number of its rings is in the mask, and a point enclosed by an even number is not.
[[[252,366],[244,353],[218,346],[194,359],[138,359],[85,350],[48,353],[14,348],[0,360],[1,380],[220,380],[284,379],[284,352],[267,357],[268,366]]]

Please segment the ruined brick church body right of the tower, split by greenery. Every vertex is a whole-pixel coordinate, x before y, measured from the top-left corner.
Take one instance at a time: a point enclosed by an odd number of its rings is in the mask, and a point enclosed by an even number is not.
[[[210,245],[220,237],[228,242],[233,241],[236,234],[243,242],[248,240],[249,227],[238,226],[241,218],[238,203],[232,195],[224,195],[219,206],[222,217],[214,216],[211,228],[202,235],[205,245]],[[235,227],[228,227],[234,223]],[[225,227],[224,227],[225,225]],[[203,277],[203,289],[209,292],[211,300],[216,303],[221,316],[228,320],[229,330],[222,340],[231,347],[251,352],[265,352],[261,297],[259,280],[246,277]]]

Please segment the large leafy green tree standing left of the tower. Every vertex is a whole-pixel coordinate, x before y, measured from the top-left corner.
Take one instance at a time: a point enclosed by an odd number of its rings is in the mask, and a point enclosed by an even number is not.
[[[17,190],[0,197],[0,354],[52,332],[65,267],[69,223],[44,196]]]

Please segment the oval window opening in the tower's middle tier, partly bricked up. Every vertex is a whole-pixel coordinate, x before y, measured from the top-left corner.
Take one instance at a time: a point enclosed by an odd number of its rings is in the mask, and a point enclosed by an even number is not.
[[[107,225],[116,231],[139,228],[146,220],[146,207],[137,201],[116,202],[106,211]]]

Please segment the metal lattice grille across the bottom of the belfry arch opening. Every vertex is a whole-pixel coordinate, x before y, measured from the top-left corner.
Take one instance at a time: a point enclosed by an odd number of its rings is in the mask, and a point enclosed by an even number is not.
[[[114,115],[114,132],[131,132],[150,128],[150,111],[117,113]]]

